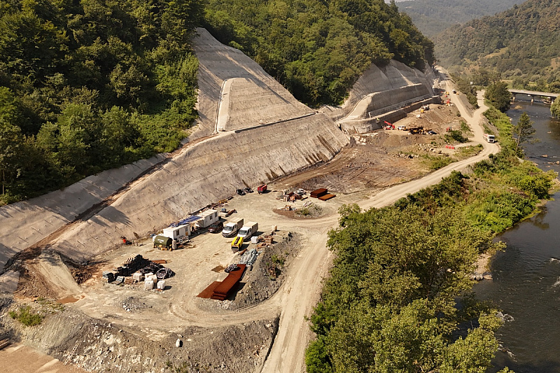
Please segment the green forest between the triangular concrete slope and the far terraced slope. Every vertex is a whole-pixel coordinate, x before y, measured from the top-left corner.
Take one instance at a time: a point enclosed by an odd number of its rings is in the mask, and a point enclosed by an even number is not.
[[[433,43],[383,0],[209,0],[204,19],[311,106],[341,104],[372,62],[433,61]]]

